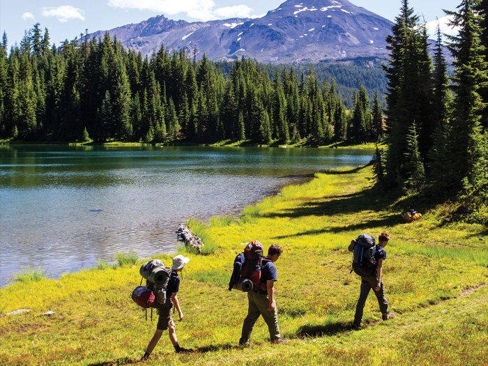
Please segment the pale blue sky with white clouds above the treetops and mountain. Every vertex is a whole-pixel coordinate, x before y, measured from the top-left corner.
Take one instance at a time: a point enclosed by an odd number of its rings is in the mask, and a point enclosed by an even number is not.
[[[306,0],[303,0],[304,2]],[[340,0],[339,0],[340,1]],[[51,42],[59,44],[84,33],[138,23],[155,15],[189,22],[259,17],[280,6],[284,0],[0,0],[0,30],[6,31],[9,46],[20,42],[24,31],[36,22],[49,29]],[[372,12],[393,20],[399,13],[400,0],[351,0]],[[445,23],[443,8],[455,10],[460,0],[410,0],[415,12],[426,22],[436,17]],[[452,33],[447,28],[441,28]]]

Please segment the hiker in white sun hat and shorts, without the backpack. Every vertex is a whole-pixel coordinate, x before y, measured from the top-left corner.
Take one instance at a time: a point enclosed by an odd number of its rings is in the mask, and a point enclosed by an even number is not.
[[[151,352],[161,338],[163,330],[167,329],[169,340],[171,340],[171,344],[173,344],[176,353],[191,352],[190,349],[184,349],[178,344],[178,339],[176,338],[176,326],[171,317],[171,310],[173,309],[174,305],[176,311],[178,312],[180,321],[183,320],[183,312],[181,311],[180,302],[177,296],[180,287],[180,277],[178,276],[178,272],[183,270],[183,267],[185,267],[185,264],[187,264],[188,261],[190,261],[190,258],[183,257],[181,254],[173,258],[173,266],[171,267],[172,271],[166,288],[167,304],[158,308],[158,326],[156,326],[156,331],[147,346],[146,353],[144,353],[144,356],[142,357],[143,359],[148,358],[149,355],[151,355]]]

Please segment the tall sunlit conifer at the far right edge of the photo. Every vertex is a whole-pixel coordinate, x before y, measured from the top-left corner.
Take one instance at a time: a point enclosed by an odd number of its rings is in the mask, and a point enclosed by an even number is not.
[[[453,17],[451,26],[459,26],[459,35],[450,36],[448,45],[455,56],[455,75],[452,119],[448,136],[450,169],[456,171],[448,187],[457,191],[464,186],[472,190],[487,179],[486,135],[480,125],[484,107],[478,90],[488,80],[487,60],[480,43],[481,17],[475,11],[478,1],[462,0],[456,12],[446,12]]]

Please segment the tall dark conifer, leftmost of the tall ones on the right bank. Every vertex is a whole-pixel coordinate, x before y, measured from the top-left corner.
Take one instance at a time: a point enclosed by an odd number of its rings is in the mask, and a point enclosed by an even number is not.
[[[401,185],[410,178],[404,155],[408,151],[406,135],[413,121],[418,123],[422,159],[432,146],[433,130],[429,118],[432,94],[427,31],[425,24],[419,24],[418,17],[413,15],[408,0],[402,0],[401,13],[395,18],[387,43],[390,61],[385,68],[388,79],[386,172],[388,183]]]

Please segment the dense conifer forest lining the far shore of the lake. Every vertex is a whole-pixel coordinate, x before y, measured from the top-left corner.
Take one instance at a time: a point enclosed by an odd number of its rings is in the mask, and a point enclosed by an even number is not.
[[[312,67],[215,64],[164,47],[142,58],[108,35],[55,47],[40,24],[10,50],[3,33],[1,46],[3,138],[330,144],[382,133],[379,93],[372,102],[361,84],[349,113],[335,80],[319,82]]]

